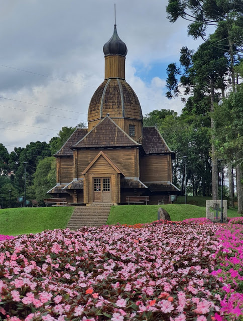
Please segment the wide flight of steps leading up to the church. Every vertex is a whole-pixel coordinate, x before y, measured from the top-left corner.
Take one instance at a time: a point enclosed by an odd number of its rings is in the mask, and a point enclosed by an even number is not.
[[[108,219],[113,204],[94,203],[89,206],[75,207],[67,228],[76,230],[82,226],[101,226]]]

